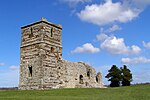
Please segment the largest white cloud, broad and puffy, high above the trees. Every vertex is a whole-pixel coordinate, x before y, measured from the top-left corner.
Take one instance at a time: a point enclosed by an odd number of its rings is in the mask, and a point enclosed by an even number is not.
[[[138,17],[141,10],[127,6],[121,2],[113,3],[106,0],[103,4],[92,4],[77,13],[78,17],[96,25],[106,25],[114,22],[125,23]]]

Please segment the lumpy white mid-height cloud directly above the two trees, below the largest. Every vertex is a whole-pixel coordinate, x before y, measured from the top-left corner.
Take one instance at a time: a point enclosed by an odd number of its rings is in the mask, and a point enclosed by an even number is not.
[[[112,54],[139,54],[141,49],[138,46],[126,46],[123,38],[108,36],[106,34],[97,35],[97,39],[101,40],[101,48],[106,49]]]

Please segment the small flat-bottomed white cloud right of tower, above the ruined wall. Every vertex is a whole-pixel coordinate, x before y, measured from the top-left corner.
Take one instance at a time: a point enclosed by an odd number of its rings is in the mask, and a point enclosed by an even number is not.
[[[97,53],[100,49],[94,47],[91,43],[86,43],[82,47],[77,47],[71,53]]]

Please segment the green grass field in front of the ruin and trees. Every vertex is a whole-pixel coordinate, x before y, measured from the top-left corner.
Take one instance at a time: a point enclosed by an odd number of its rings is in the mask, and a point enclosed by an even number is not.
[[[103,89],[1,90],[0,100],[150,100],[150,85]]]

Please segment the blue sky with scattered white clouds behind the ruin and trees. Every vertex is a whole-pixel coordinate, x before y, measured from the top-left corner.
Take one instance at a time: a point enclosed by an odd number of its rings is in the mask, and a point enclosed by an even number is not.
[[[150,0],[2,0],[0,87],[18,86],[20,27],[41,17],[62,24],[63,58],[92,65],[104,84],[113,64],[150,82]]]

